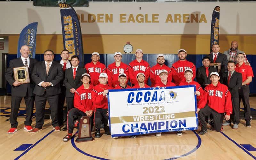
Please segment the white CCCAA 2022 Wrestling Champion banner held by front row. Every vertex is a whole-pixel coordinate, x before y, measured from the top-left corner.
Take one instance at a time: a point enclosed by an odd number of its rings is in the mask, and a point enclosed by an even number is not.
[[[196,86],[109,90],[111,136],[195,130]]]

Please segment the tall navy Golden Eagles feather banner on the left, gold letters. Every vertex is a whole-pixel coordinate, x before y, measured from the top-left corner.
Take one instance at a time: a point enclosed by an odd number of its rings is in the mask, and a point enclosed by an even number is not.
[[[69,58],[73,55],[78,56],[79,66],[84,67],[81,27],[76,11],[68,4],[60,3],[59,5],[64,49],[69,51]]]

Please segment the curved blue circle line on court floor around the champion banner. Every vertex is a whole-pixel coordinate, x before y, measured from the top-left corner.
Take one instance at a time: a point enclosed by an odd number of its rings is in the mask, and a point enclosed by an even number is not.
[[[177,157],[173,157],[173,158],[168,158],[168,159],[166,159],[166,160],[172,160],[172,159],[177,159],[177,158],[180,158],[180,157],[188,156],[189,154],[195,152],[195,151],[201,146],[201,143],[202,143],[201,138],[199,137],[199,135],[198,135],[195,131],[192,131],[192,132],[195,133],[195,135],[196,135],[196,137],[197,137],[197,139],[198,139],[198,143],[197,143],[196,147],[195,147],[193,150],[189,151],[188,153],[185,153],[185,154],[183,154],[183,155],[181,155],[181,156],[177,156]],[[76,132],[76,133],[77,133],[77,132]],[[84,155],[86,155],[86,156],[90,156],[90,157],[92,157],[92,158],[101,159],[101,160],[109,160],[109,159],[105,159],[105,158],[93,156],[93,155],[90,155],[90,154],[88,154],[88,153],[82,151],[81,149],[79,149],[79,148],[76,146],[74,139],[75,139],[75,137],[73,137],[73,138],[71,139],[71,144],[72,144],[72,146],[73,146],[78,152],[80,152],[80,153],[82,153],[82,154],[84,154]]]

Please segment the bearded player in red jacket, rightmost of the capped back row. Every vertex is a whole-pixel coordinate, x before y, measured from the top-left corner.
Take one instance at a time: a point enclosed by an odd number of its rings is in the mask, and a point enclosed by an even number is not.
[[[196,73],[196,66],[186,60],[187,52],[184,49],[178,51],[179,60],[172,64],[172,79],[175,85],[179,85],[181,81],[185,80],[184,71],[186,69],[192,69],[193,73]],[[194,80],[196,75],[193,75],[192,80]]]

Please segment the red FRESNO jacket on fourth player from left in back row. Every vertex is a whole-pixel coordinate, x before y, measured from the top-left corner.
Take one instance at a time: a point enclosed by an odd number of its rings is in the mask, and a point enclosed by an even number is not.
[[[151,87],[155,86],[155,84],[159,83],[161,81],[159,77],[159,71],[165,69],[168,71],[168,82],[172,81],[172,74],[171,73],[171,68],[166,66],[165,64],[161,67],[160,64],[156,64],[150,69],[150,81],[151,81]]]

